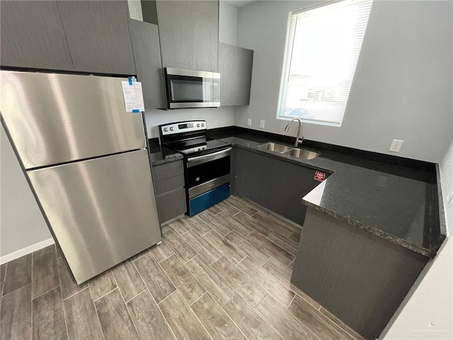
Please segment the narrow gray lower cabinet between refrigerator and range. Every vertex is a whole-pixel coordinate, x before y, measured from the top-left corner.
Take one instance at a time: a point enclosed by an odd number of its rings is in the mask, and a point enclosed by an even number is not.
[[[187,211],[183,161],[153,166],[152,173],[157,213],[162,225]]]

